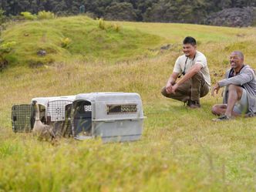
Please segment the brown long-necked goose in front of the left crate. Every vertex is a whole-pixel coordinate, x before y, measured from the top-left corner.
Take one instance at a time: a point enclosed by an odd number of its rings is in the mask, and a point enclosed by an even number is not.
[[[39,104],[36,101],[33,101],[35,105],[35,123],[33,126],[33,133],[39,137],[39,140],[52,141],[56,138],[55,133],[52,130],[52,126],[45,125],[41,122],[39,117]]]

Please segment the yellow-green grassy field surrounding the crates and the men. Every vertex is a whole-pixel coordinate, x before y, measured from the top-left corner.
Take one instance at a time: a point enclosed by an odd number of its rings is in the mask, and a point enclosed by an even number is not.
[[[158,43],[170,43],[171,48],[164,52],[150,49],[138,59],[132,54],[123,62],[117,62],[123,59],[118,51],[109,57],[106,54],[106,62],[100,62],[96,50],[90,55],[92,60],[64,59],[35,69],[16,65],[0,73],[0,191],[256,190],[255,118],[214,123],[211,106],[221,103],[220,95],[207,95],[201,99],[202,108],[196,110],[160,95],[186,35],[198,40],[198,50],[207,56],[215,82],[228,68],[234,49],[244,52],[245,62],[256,68],[256,29],[119,24],[130,34],[157,35],[156,39],[165,39]],[[25,24],[10,29],[19,25]],[[151,43],[149,39],[140,47]],[[103,144],[63,139],[53,147],[31,134],[12,133],[10,116],[15,103],[29,103],[35,96],[101,91],[140,93],[147,116],[140,141]]]

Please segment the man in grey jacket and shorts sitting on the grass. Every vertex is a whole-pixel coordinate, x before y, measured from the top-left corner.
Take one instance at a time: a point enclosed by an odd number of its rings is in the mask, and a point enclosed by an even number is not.
[[[214,121],[230,120],[232,116],[247,114],[254,116],[256,113],[256,79],[254,70],[244,64],[242,52],[235,51],[230,56],[231,69],[226,72],[226,79],[217,82],[211,90],[218,93],[219,89],[226,86],[224,90],[224,104],[212,107],[212,113],[219,116]]]

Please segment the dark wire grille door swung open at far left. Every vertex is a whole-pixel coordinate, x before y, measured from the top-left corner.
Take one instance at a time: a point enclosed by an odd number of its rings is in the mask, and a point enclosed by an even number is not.
[[[31,105],[12,106],[12,130],[14,132],[29,132],[32,124]]]

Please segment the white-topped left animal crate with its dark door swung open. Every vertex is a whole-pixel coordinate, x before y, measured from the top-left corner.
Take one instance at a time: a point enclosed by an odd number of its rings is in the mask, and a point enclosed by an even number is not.
[[[39,104],[39,118],[42,123],[52,124],[55,133],[72,134],[71,108],[75,96],[37,97],[32,101]],[[12,130],[29,132],[35,123],[35,107],[31,104],[12,106]]]

